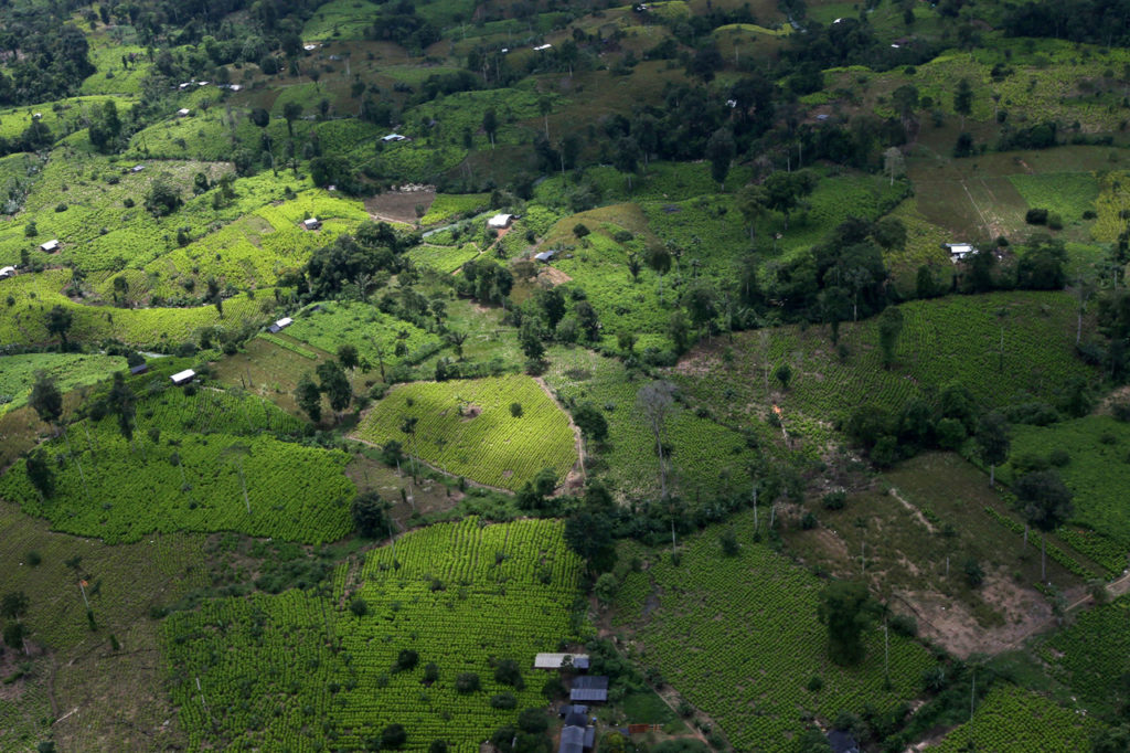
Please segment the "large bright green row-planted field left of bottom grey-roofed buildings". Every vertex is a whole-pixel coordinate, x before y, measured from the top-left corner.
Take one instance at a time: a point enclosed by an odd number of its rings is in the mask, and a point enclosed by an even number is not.
[[[490,698],[544,706],[533,656],[577,632],[581,562],[562,530],[541,520],[438,523],[400,538],[394,559],[393,547],[373,551],[348,582],[339,569],[332,594],[292,590],[174,614],[165,661],[189,747],[359,750],[395,722],[407,750],[444,739],[477,751],[515,716]],[[355,598],[367,614],[350,612]],[[417,651],[417,666],[397,670],[402,649]],[[524,689],[495,681],[492,663],[503,659],[518,663]],[[424,680],[429,664],[434,682]],[[459,693],[462,673],[477,674],[481,690]]]

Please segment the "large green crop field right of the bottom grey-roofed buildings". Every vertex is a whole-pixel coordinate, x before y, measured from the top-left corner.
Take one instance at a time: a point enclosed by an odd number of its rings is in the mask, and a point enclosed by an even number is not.
[[[922,672],[932,666],[930,655],[892,634],[889,690],[881,631],[864,633],[867,655],[859,665],[833,664],[827,629],[816,616],[824,582],[754,543],[753,523],[751,511],[733,519],[736,556],[719,547],[721,529],[707,529],[683,543],[677,566],[657,551],[650,568],[628,573],[614,620],[636,629],[647,663],[709,713],[738,750],[791,750],[788,734],[802,727],[799,709],[834,718],[864,704],[887,710],[913,698]],[[767,523],[762,514],[763,534]],[[806,686],[814,675],[824,681],[818,692]]]

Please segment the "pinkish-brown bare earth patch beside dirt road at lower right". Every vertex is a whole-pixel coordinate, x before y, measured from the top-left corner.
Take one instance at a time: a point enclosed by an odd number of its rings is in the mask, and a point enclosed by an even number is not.
[[[1038,591],[1018,586],[1000,571],[985,577],[981,598],[1003,616],[1005,624],[982,625],[967,605],[933,590],[897,594],[896,609],[907,607],[918,620],[919,634],[963,659],[1015,648],[1052,621],[1051,606]]]

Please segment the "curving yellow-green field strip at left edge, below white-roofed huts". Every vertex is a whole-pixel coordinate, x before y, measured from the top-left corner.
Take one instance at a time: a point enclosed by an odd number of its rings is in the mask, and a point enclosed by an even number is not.
[[[47,332],[46,314],[54,305],[69,309],[73,314],[70,339],[101,343],[115,338],[128,345],[147,347],[176,346],[197,339],[205,327],[238,327],[245,321],[264,319],[260,310],[262,296],[271,291],[260,291],[259,298],[246,294],[224,302],[224,318],[215,306],[193,309],[112,309],[73,303],[61,291],[70,282],[70,270],[51,269],[38,275],[19,275],[0,283],[0,291],[11,295],[11,306],[0,298],[0,341],[34,345],[51,343],[56,338]]]

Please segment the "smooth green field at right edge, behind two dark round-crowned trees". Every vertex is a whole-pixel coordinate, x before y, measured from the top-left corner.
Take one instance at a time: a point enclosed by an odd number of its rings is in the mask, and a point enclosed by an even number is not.
[[[1086,416],[1051,426],[1012,427],[1012,459],[1046,459],[1058,449],[1067,450],[1071,458],[1057,470],[1075,494],[1074,520],[1113,537],[1123,548],[1130,547],[1130,510],[1124,503],[1125,490],[1130,488],[1130,465],[1125,462],[1130,425],[1110,416]],[[998,473],[1006,483],[1016,475],[1011,464]]]

